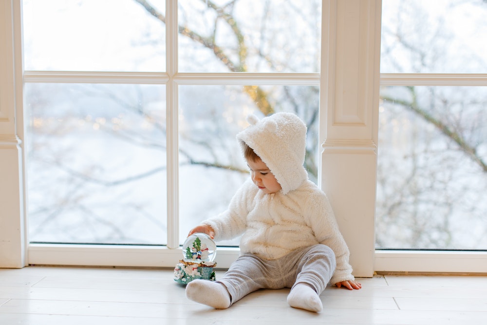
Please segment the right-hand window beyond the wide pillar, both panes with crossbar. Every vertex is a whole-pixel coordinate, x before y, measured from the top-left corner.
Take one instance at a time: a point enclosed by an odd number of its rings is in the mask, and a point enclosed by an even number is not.
[[[383,0],[376,247],[487,249],[487,3]]]

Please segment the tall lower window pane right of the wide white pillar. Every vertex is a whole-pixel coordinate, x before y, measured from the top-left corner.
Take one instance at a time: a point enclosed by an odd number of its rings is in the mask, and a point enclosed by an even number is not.
[[[487,87],[381,97],[376,246],[487,249]]]

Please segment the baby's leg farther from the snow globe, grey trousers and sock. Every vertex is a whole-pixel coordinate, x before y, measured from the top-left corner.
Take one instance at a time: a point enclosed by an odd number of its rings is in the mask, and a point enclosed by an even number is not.
[[[335,253],[325,245],[307,249],[298,264],[298,275],[287,303],[291,307],[321,311],[319,294],[323,292],[335,272]]]

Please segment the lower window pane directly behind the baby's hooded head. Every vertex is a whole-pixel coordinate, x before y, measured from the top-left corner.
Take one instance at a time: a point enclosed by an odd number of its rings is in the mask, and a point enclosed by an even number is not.
[[[255,100],[253,94],[261,94]],[[305,167],[317,181],[318,88],[311,86],[180,86],[180,238],[223,212],[249,177],[236,135],[249,114],[293,112],[308,126]],[[239,241],[220,245],[238,245]]]

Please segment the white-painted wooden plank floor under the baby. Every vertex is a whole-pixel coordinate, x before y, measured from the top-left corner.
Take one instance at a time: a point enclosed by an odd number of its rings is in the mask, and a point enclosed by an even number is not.
[[[217,272],[217,279],[223,272]],[[169,269],[0,269],[0,324],[487,324],[487,277],[375,276],[327,288],[320,313],[260,290],[225,310],[187,300]]]

